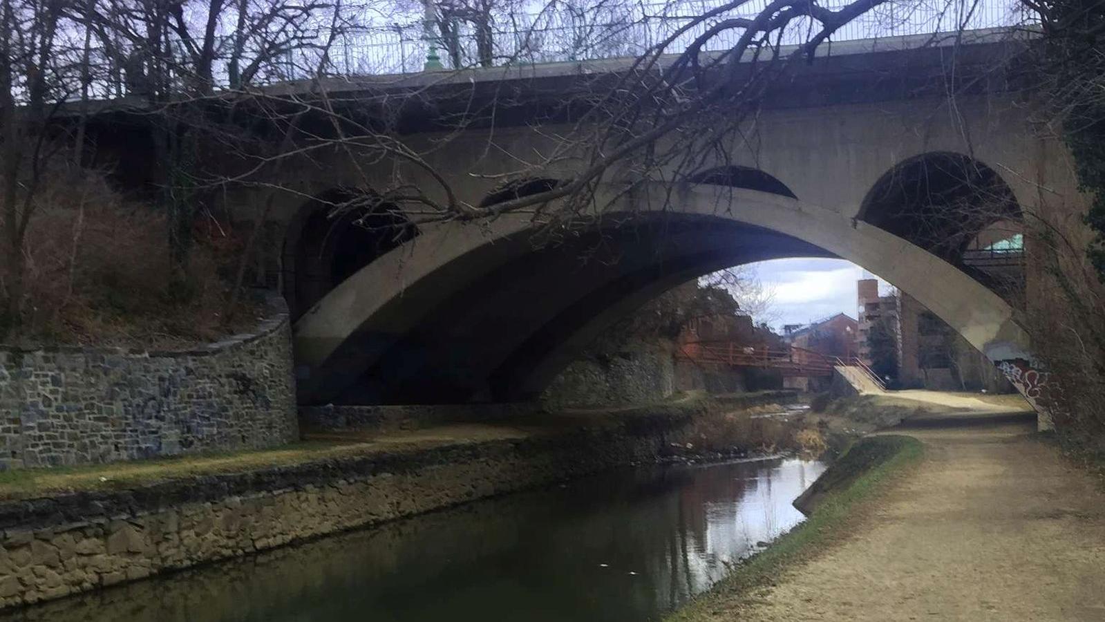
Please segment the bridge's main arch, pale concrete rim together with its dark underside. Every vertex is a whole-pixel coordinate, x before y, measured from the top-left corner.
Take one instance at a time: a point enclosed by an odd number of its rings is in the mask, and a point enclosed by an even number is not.
[[[538,243],[518,221],[497,235],[442,233],[438,246],[431,235],[392,251],[396,257],[362,268],[296,324],[301,401],[527,399],[665,289],[780,257],[850,260],[914,295],[980,350],[1025,346],[1000,298],[876,228],[753,190],[688,187],[675,203],[684,211],[653,208],[646,193],[627,197],[615,204],[633,218],[608,213],[556,243]],[[443,252],[450,244],[456,249]]]

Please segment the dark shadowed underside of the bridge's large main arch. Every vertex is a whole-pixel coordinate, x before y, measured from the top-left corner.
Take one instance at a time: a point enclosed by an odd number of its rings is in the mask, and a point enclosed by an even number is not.
[[[338,399],[450,403],[532,398],[586,341],[663,291],[720,267],[831,256],[725,222],[625,228],[556,243],[473,280],[402,335]],[[583,346],[586,344],[580,344]],[[567,360],[561,360],[567,355]]]

